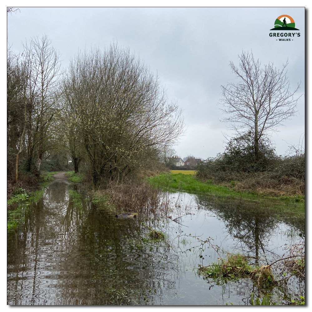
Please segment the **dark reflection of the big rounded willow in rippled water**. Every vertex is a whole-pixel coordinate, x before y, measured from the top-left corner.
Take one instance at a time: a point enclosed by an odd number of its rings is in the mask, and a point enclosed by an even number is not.
[[[176,270],[177,257],[169,253],[164,260],[165,246],[143,242],[142,231],[136,220],[90,209],[80,244],[92,271],[94,295],[90,298],[82,291],[78,298],[84,298],[84,304],[155,304],[160,303],[163,289],[167,295],[173,292],[168,271]]]

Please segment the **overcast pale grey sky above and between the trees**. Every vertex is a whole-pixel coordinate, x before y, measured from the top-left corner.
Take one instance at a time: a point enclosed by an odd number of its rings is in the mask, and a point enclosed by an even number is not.
[[[158,72],[169,99],[184,110],[187,129],[175,147],[178,156],[214,157],[224,150],[223,134],[231,135],[222,118],[220,85],[235,82],[229,62],[251,51],[261,64],[280,68],[288,59],[292,89],[305,92],[305,9],[301,8],[27,8],[7,17],[8,43],[16,52],[22,42],[46,34],[60,51],[62,66],[79,49],[104,49],[115,40]],[[275,19],[290,15],[300,37],[270,37]],[[297,145],[305,132],[305,97],[297,116],[272,134],[277,154]]]

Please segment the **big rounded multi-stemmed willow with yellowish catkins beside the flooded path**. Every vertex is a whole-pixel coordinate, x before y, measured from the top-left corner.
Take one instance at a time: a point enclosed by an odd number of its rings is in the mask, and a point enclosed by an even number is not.
[[[119,181],[183,132],[176,102],[129,49],[112,44],[107,50],[79,53],[64,81],[76,138],[83,144],[94,183]]]

